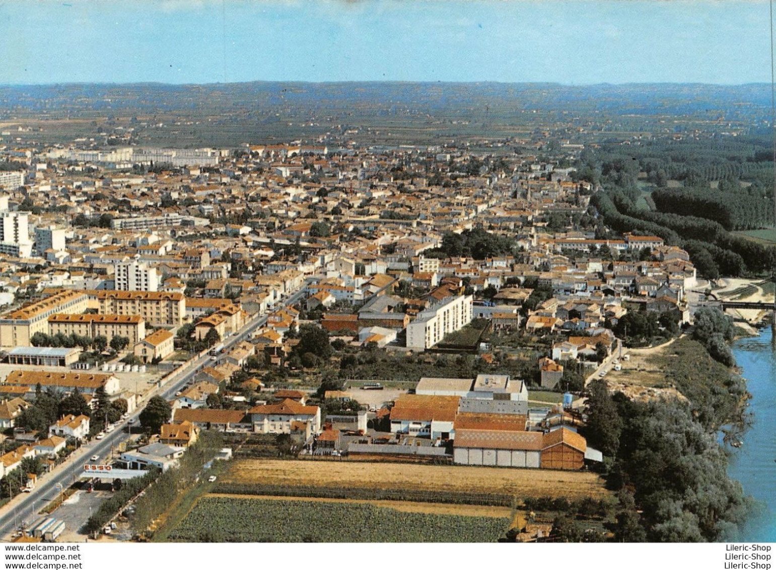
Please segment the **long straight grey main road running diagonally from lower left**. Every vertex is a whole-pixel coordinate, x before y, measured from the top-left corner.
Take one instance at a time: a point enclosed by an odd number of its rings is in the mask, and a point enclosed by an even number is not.
[[[282,301],[282,306],[287,307],[290,304],[300,301],[307,288],[307,283],[309,282],[310,279],[305,282],[305,287],[296,291],[296,293],[289,296],[285,301]],[[240,332],[230,336],[223,343],[224,348],[228,349],[237,342],[248,339],[257,328],[266,324],[267,318],[267,315],[259,318],[252,318],[240,329]],[[160,388],[154,388],[154,390],[147,395],[151,397],[156,393],[161,395],[162,398],[165,398],[165,400],[170,399],[176,391],[180,390],[185,384],[191,381],[196,373],[209,361],[210,356],[207,354],[189,360],[189,362],[185,363],[182,367],[182,370],[186,370],[185,374],[174,375],[170,381],[165,382],[165,385]],[[137,422],[137,417],[139,415],[140,410],[138,409],[130,414],[126,421],[117,424],[117,429],[106,434],[104,439],[92,440],[81,446],[78,450],[75,450],[64,463],[57,465],[57,467],[54,468],[54,471],[50,474],[43,475],[32,492],[20,493],[3,506],[2,509],[0,509],[0,511],[2,511],[2,515],[0,515],[0,537],[8,537],[9,534],[16,531],[23,522],[28,525],[34,523],[39,518],[37,513],[43,506],[46,506],[48,502],[56,499],[57,495],[61,492],[61,489],[68,488],[81,477],[83,465],[88,463],[87,460],[89,457],[94,455],[99,455],[101,458],[106,457],[111,453],[113,447],[116,447],[126,438],[123,427],[126,426],[126,422],[129,420]]]

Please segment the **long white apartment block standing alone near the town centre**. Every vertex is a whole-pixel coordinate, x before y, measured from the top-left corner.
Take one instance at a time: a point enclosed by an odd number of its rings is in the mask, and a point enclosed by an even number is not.
[[[407,348],[425,350],[450,332],[460,330],[472,321],[473,297],[449,297],[425,311],[407,325]]]

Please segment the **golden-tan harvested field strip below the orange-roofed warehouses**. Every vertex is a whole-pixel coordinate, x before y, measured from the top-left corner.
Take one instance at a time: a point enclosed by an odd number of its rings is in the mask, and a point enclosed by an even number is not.
[[[221,476],[224,486],[320,486],[341,489],[398,489],[465,494],[492,493],[524,497],[556,496],[601,499],[609,493],[597,474],[501,467],[465,467],[367,463],[361,461],[233,461]],[[274,493],[266,493],[274,494]],[[293,493],[289,489],[289,495]],[[359,496],[359,498],[361,498]],[[431,501],[433,502],[433,501]]]

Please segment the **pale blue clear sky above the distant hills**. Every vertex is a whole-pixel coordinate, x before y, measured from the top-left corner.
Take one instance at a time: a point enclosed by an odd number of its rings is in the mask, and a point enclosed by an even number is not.
[[[0,83],[770,82],[735,0],[0,0]]]

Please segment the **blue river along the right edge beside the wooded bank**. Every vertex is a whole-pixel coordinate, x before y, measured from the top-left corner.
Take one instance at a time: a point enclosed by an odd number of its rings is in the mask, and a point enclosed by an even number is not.
[[[767,513],[750,520],[743,540],[776,542],[776,355],[771,328],[758,337],[733,343],[736,363],[752,394],[753,426],[744,433],[743,447],[733,450],[728,473],[743,490],[767,506]]]

